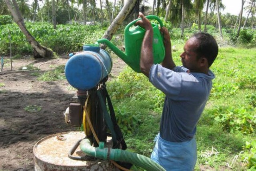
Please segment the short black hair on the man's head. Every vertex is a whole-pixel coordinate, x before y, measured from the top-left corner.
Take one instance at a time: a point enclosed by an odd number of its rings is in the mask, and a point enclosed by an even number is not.
[[[198,32],[192,36],[198,40],[198,47],[195,52],[198,58],[205,57],[210,67],[218,55],[218,44],[214,37],[205,32]]]

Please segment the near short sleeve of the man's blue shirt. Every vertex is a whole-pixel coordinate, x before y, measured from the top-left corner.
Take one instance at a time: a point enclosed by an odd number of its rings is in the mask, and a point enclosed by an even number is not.
[[[149,81],[169,97],[175,98],[180,94],[182,75],[159,64],[152,65],[150,68]]]

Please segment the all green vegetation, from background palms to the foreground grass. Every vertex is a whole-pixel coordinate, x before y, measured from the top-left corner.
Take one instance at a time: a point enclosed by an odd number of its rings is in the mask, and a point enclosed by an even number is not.
[[[112,16],[116,16],[123,5],[118,1],[114,6],[105,0],[106,3],[101,11],[94,0],[85,0],[82,8],[82,1],[76,2],[77,6],[73,5],[75,1],[57,1],[55,17],[58,24],[55,28],[51,24],[55,15],[52,12],[54,0],[46,0],[41,7],[38,6],[37,0],[31,5],[26,0],[17,2],[28,31],[40,44],[56,54],[78,52],[82,50],[84,44],[94,44],[96,40],[102,38],[112,21]],[[216,38],[220,46],[218,57],[211,67],[216,78],[213,81],[210,99],[197,127],[196,170],[202,165],[216,170],[255,170],[255,0],[249,0],[248,4],[245,4],[244,12],[248,17],[242,17],[239,24],[236,23],[238,16],[224,14],[217,17],[218,12],[214,13],[216,5],[218,4],[219,10],[224,9],[221,0],[194,0],[193,3],[190,0],[157,0],[156,2],[154,8],[145,7],[144,13],[162,17],[164,25],[170,32],[176,64],[181,65],[179,54],[186,40],[195,32],[205,30]],[[164,19],[166,4],[169,2],[172,2],[170,15]],[[207,12],[202,12],[202,5],[205,6],[206,2],[210,4],[208,19],[204,22],[201,20],[206,17]],[[119,47],[123,46],[124,26],[134,18],[134,13],[136,14],[136,10],[126,18],[112,39],[112,42]],[[242,30],[237,33],[236,29],[238,30],[241,25],[243,25]],[[12,22],[3,0],[0,0],[0,30],[1,56],[9,56],[12,52],[12,59],[16,60],[22,55],[33,53],[33,48],[23,32],[16,23]],[[107,51],[116,58],[110,50]],[[4,59],[5,65],[9,62],[10,59]],[[36,68],[30,65],[26,66],[26,69]],[[33,72],[32,76],[38,77],[40,81],[63,80],[64,66],[58,66],[43,74]],[[4,86],[5,84],[0,82],[0,87]],[[128,150],[150,157],[154,147],[153,139],[159,130],[164,94],[154,88],[144,75],[137,74],[130,68],[126,68],[118,78],[107,82],[107,87]],[[3,92],[0,90],[0,93]],[[36,112],[41,110],[41,107],[28,105],[24,110]]]

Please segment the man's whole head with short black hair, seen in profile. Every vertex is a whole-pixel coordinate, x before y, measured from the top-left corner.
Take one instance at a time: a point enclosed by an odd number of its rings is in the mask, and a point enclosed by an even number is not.
[[[204,32],[194,34],[180,54],[184,67],[192,72],[205,72],[218,55],[218,45],[212,35]]]

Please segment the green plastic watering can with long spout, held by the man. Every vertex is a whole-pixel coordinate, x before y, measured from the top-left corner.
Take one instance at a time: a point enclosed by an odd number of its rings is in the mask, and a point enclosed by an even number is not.
[[[156,20],[159,22],[160,27],[162,28],[163,23],[157,16],[146,16],[149,20]],[[140,73],[140,50],[142,41],[145,35],[146,30],[140,26],[134,26],[134,24],[141,20],[138,18],[130,22],[124,28],[124,45],[125,45],[125,54],[119,50],[114,44],[112,44],[107,39],[100,39],[97,40],[98,43],[106,44],[118,57],[120,57],[128,66],[132,68],[135,72]],[[160,33],[158,28],[158,24],[152,23],[153,28],[153,57],[154,57],[154,64],[160,64],[164,60],[165,56],[165,48],[163,42],[163,36]],[[133,26],[133,27],[132,27]]]

